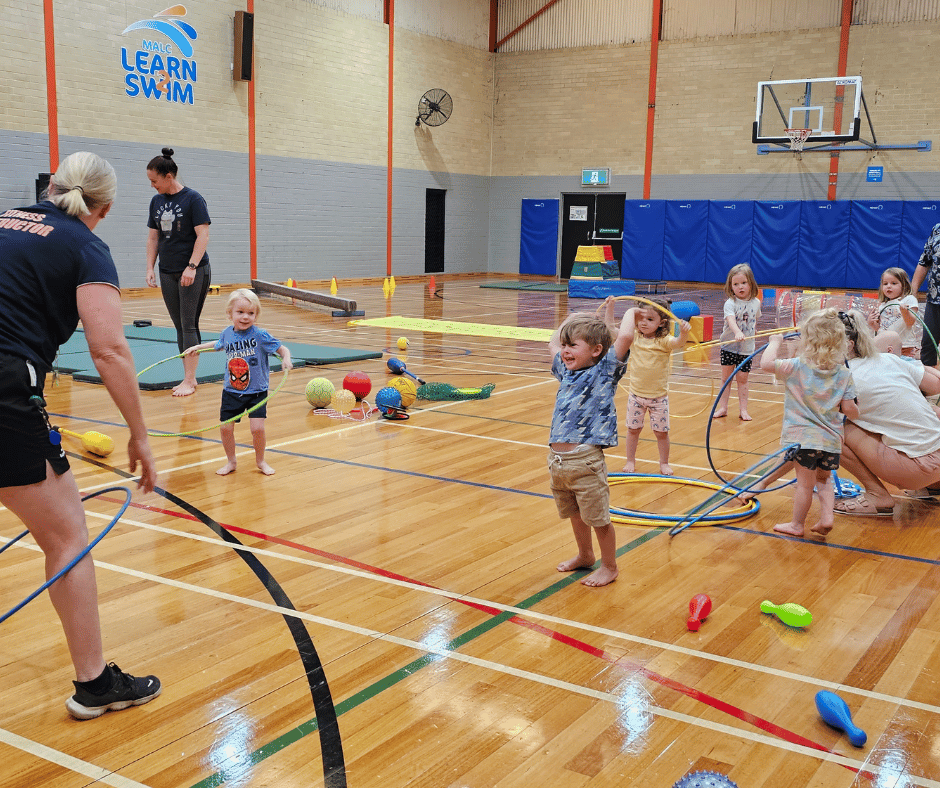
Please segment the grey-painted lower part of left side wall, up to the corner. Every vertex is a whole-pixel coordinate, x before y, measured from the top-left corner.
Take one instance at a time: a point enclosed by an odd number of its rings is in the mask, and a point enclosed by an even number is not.
[[[172,139],[164,144],[174,149],[180,181],[202,194],[209,206],[213,281],[247,282],[247,156],[180,148]],[[6,152],[0,171],[0,204],[32,204],[36,176],[49,166],[46,136],[0,131],[0,145]],[[62,158],[77,150],[90,150],[114,166],[117,200],[97,232],[111,247],[121,284],[144,286],[147,207],[154,194],[146,165],[159,154],[160,146],[63,137],[59,149]],[[259,278],[385,276],[384,167],[261,156],[257,168]],[[429,188],[447,190],[445,272],[487,270],[488,178],[396,170],[392,183],[394,274],[424,273],[425,190]],[[518,210],[517,205],[517,214]]]

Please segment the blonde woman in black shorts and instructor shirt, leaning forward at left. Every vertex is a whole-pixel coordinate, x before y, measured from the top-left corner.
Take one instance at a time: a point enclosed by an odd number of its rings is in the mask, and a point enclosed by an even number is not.
[[[108,215],[117,181],[93,153],[73,153],[52,176],[47,200],[0,211],[0,503],[29,529],[45,554],[46,578],[88,546],[85,511],[69,463],[50,442],[42,400],[59,346],[81,319],[95,368],[130,428],[130,469],[153,490],[157,472],[147,442],[134,359],[124,338],[117,270],[92,232]],[[95,565],[86,555],[49,587],[75,667],[66,701],[78,719],[146,703],[156,676],[135,678],[106,665]]]

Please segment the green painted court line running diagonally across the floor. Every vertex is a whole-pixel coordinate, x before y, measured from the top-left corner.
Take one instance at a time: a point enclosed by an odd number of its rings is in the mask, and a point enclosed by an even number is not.
[[[640,547],[641,545],[645,544],[650,539],[653,539],[654,537],[663,533],[665,530],[666,528],[653,528],[647,533],[643,534],[642,536],[637,537],[632,542],[628,542],[623,547],[617,550],[618,558],[630,552],[631,550],[635,550],[637,547]],[[537,592],[536,594],[533,594],[528,599],[524,599],[519,604],[514,605],[514,607],[519,607],[519,608],[523,608],[527,610],[537,605],[542,600],[547,599],[553,594],[556,594],[557,592],[567,588],[573,583],[579,582],[581,577],[583,577],[582,572],[573,572],[569,576],[562,578],[561,580],[555,583],[552,583],[547,588],[544,588],[541,591]],[[452,601],[459,602],[460,600],[452,600]],[[513,618],[516,615],[518,614],[509,612],[509,611],[504,611],[502,613],[499,613],[498,615],[493,616],[487,621],[484,621],[482,624],[478,624],[477,626],[471,629],[468,629],[464,634],[458,635],[449,643],[447,643],[447,645],[445,645],[444,648],[447,651],[457,651],[461,646],[466,645],[471,640],[475,640],[481,635],[485,635],[491,629],[494,629],[495,627],[508,621],[509,619]],[[390,673],[385,678],[379,679],[378,681],[366,687],[365,689],[360,690],[355,695],[350,695],[348,698],[346,698],[346,700],[341,701],[340,703],[337,703],[336,704],[336,716],[341,717],[347,711],[351,711],[357,706],[360,706],[363,703],[365,703],[367,700],[371,700],[379,693],[384,692],[390,687],[394,687],[400,681],[403,681],[404,679],[408,678],[411,674],[417,673],[422,668],[425,668],[428,665],[431,665],[445,658],[446,657],[443,654],[424,654],[423,656],[418,657],[416,660],[409,662],[407,665],[399,668],[394,673]],[[301,723],[296,728],[292,728],[286,733],[281,734],[280,736],[278,736],[276,739],[269,742],[268,744],[262,745],[257,750],[250,753],[248,756],[240,758],[238,760],[237,765],[233,765],[232,767],[229,767],[229,768],[223,767],[219,769],[219,771],[217,771],[215,774],[211,774],[208,777],[206,777],[204,780],[201,780],[200,782],[195,783],[193,786],[191,786],[191,788],[218,788],[218,786],[224,785],[225,782],[228,780],[235,779],[237,777],[244,777],[245,772],[251,769],[251,767],[256,766],[257,764],[261,763],[262,761],[266,760],[272,755],[275,755],[276,753],[283,750],[285,747],[288,747],[291,744],[294,744],[295,742],[300,741],[305,736],[309,736],[311,733],[316,732],[316,730],[317,730],[317,720],[316,720],[316,717],[314,717],[312,720],[307,720],[307,722]]]

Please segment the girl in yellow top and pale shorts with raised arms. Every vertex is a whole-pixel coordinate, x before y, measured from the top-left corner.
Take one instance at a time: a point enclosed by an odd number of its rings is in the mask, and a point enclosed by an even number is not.
[[[650,412],[650,427],[659,448],[659,472],[672,476],[669,466],[669,357],[675,348],[685,345],[689,324],[679,321],[679,336],[669,334],[666,310],[669,301],[652,299],[659,307],[634,307],[624,316],[622,330],[630,348],[629,397],[627,399],[626,473],[636,470],[636,447],[643,431],[644,414]]]

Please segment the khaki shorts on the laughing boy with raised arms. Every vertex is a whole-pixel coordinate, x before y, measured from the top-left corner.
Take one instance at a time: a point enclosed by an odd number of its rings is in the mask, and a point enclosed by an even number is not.
[[[610,525],[610,487],[603,449],[585,445],[568,452],[549,449],[548,472],[559,517],[580,514],[592,528]]]

